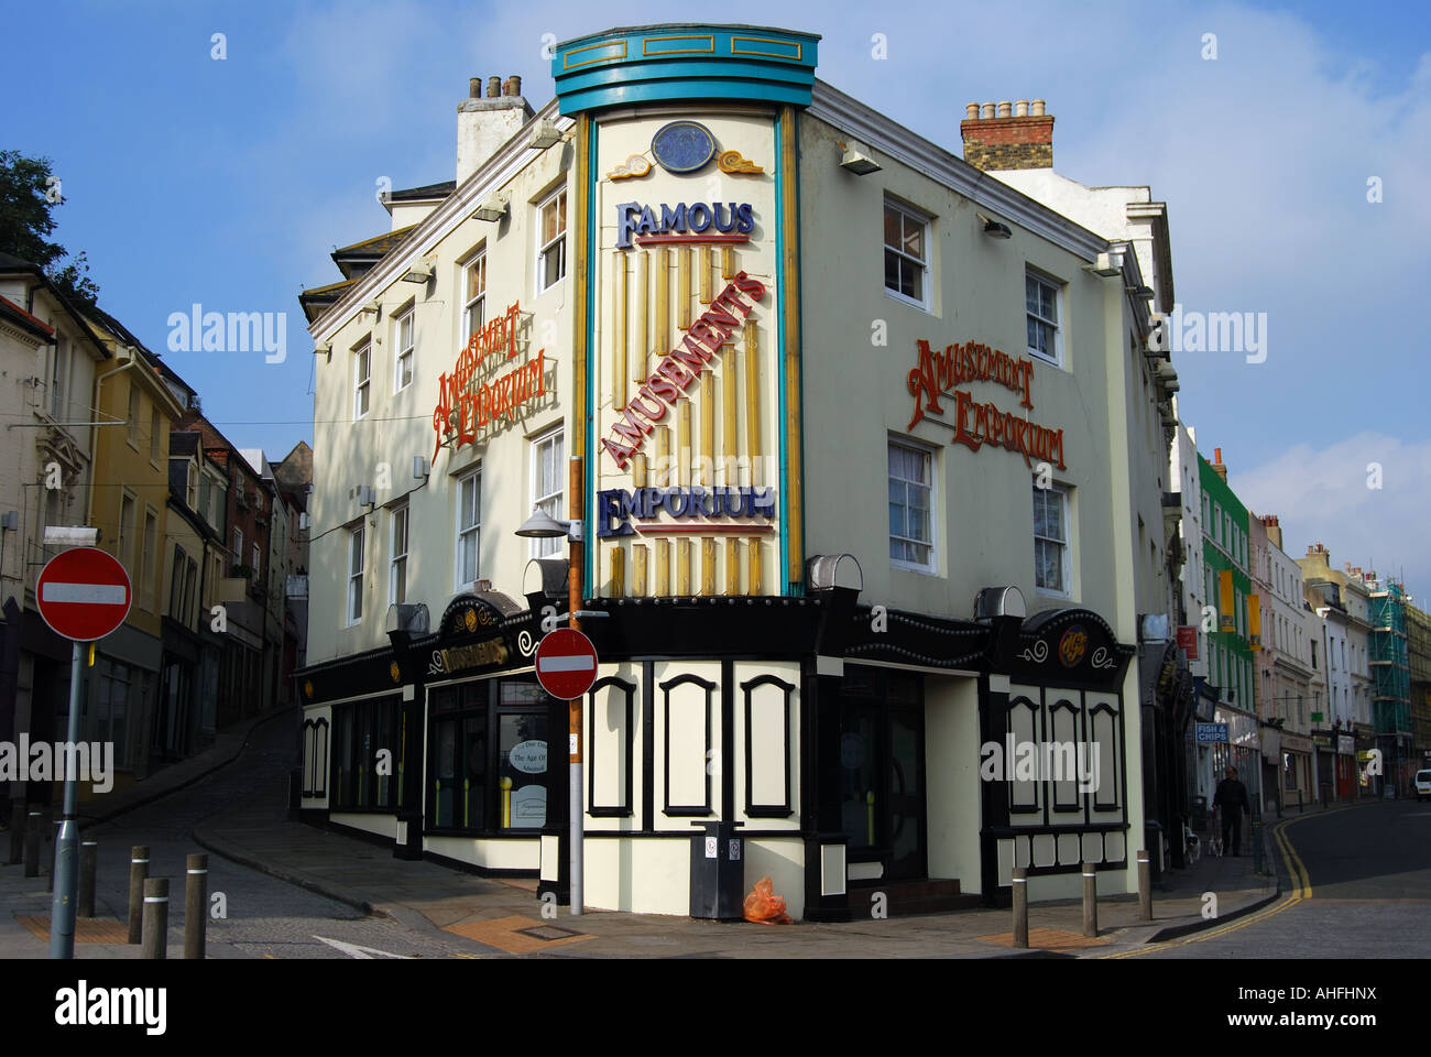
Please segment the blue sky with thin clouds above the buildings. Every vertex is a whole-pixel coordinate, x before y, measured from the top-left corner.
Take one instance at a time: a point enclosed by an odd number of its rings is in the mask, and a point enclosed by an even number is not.
[[[721,19],[823,34],[817,74],[956,153],[970,100],[1047,100],[1059,172],[1168,202],[1178,299],[1266,312],[1268,357],[1175,355],[1182,414],[1286,550],[1431,596],[1421,377],[1431,36],[1420,4],[10,4],[0,146],[54,160],[56,238],[152,348],[170,312],[286,312],[288,355],[166,352],[240,447],[311,440],[303,285],[379,233],[378,180],[451,179],[469,76],[552,93],[542,36]],[[212,34],[226,57],[212,57]],[[887,59],[871,56],[886,34]],[[1206,60],[1203,34],[1218,57]],[[1382,201],[1367,201],[1379,178]],[[1402,315],[1407,318],[1402,319]],[[1381,488],[1367,487],[1368,464]],[[1422,602],[1425,597],[1422,597]]]

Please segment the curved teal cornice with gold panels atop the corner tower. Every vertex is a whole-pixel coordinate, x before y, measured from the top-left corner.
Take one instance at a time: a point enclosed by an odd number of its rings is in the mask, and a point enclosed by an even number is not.
[[[764,26],[624,27],[558,44],[551,74],[564,115],[691,99],[809,106],[819,42]]]

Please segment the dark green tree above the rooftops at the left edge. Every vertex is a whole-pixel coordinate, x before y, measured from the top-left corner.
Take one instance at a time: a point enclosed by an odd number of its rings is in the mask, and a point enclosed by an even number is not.
[[[64,199],[49,158],[26,158],[19,150],[0,150],[0,252],[37,264],[67,296],[93,307],[99,286],[89,276],[84,254],[70,256],[59,242],[52,211]]]

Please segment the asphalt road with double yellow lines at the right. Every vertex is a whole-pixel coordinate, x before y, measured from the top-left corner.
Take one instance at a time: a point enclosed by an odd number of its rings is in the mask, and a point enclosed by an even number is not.
[[[1378,801],[1292,815],[1274,856],[1284,897],[1143,958],[1425,958],[1431,803]]]

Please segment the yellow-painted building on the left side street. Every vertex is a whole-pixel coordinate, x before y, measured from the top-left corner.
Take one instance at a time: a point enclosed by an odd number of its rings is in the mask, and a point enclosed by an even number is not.
[[[114,746],[114,788],[149,771],[150,725],[163,662],[163,556],[167,550],[169,430],[182,414],[153,358],[113,317],[90,312],[113,354],[94,374],[94,487],[87,523],[99,547],[129,571],[124,624],[96,646],[86,687],[89,740]]]

